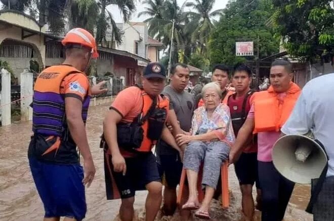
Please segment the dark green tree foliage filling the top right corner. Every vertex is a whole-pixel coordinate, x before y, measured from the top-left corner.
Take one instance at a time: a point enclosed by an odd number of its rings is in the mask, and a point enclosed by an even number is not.
[[[329,0],[273,0],[276,32],[293,56],[316,62],[334,54],[334,9]],[[290,8],[290,10],[287,10]]]

